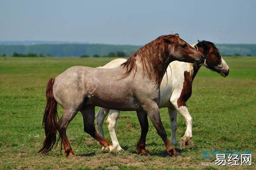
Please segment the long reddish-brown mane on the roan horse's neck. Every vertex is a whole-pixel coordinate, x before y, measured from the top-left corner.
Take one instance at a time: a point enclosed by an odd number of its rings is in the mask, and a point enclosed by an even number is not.
[[[166,68],[166,62],[168,62],[169,51],[168,43],[164,39],[169,40],[172,43],[172,46],[177,50],[179,36],[178,34],[162,35],[157,37],[155,40],[149,42],[144,47],[140,48],[137,52],[132,54],[130,58],[124,63],[123,67],[126,67],[126,72],[122,78],[127,77],[132,71],[134,71],[134,76],[137,72],[136,59],[140,57],[140,62],[142,64],[143,75],[147,72],[150,79],[152,76],[157,81],[157,84],[160,84],[163,78],[163,75]],[[138,57],[137,57],[138,56]],[[152,71],[151,71],[152,70]]]

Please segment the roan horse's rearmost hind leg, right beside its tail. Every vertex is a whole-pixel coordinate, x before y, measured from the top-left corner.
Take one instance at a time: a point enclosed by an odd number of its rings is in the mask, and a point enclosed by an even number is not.
[[[77,111],[74,111],[72,109],[64,109],[63,115],[61,116],[61,119],[58,121],[58,132],[61,137],[63,146],[64,146],[64,155],[67,157],[75,156],[75,154],[72,151],[72,148],[70,146],[70,143],[68,142],[66,130],[67,126],[70,123],[70,121],[76,116]]]

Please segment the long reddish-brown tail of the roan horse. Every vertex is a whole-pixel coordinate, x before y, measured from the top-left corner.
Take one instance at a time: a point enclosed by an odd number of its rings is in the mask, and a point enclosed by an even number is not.
[[[53,84],[55,78],[50,78],[46,87],[46,99],[47,104],[44,110],[43,127],[46,138],[44,139],[44,146],[38,151],[38,153],[46,153],[52,149],[56,143],[57,133],[57,102],[53,96]],[[58,142],[57,142],[58,143]]]

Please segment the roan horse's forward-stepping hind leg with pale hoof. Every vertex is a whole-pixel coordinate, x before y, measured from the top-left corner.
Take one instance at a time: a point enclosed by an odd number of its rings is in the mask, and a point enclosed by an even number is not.
[[[105,150],[112,151],[114,147],[110,142],[108,142],[104,137],[100,136],[99,133],[97,133],[94,125],[94,119],[95,119],[95,106],[93,105],[84,105],[80,109],[83,119],[84,119],[84,131],[88,133],[90,136],[92,136],[94,139],[96,139],[102,146],[105,148]]]

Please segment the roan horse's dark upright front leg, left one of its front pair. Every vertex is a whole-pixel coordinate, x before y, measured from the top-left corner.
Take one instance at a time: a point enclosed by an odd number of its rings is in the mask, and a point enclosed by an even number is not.
[[[140,122],[141,134],[140,140],[137,144],[136,151],[140,153],[141,156],[148,156],[148,152],[145,148],[146,136],[148,133],[148,117],[144,111],[137,111],[137,116]]]

